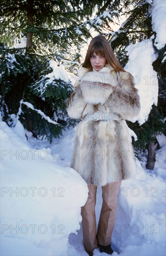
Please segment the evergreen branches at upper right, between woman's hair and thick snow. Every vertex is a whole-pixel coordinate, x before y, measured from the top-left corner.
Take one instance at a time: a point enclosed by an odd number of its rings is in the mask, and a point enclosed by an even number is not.
[[[112,8],[119,10],[121,15],[127,18],[117,31],[104,34],[108,36],[111,47],[123,67],[128,62],[125,48],[131,44],[139,44],[153,34],[149,7],[150,4],[145,0],[115,0],[113,3]]]

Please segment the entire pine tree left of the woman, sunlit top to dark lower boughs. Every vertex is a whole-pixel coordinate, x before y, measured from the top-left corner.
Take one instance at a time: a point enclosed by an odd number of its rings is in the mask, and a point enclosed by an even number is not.
[[[51,60],[71,63],[91,31],[118,17],[102,0],[1,0],[0,87],[2,120],[14,126],[19,120],[34,136],[52,138],[75,125],[66,113],[73,88],[57,77]],[[26,41],[25,47],[21,45]],[[15,47],[13,47],[15,45]],[[67,56],[67,54],[70,54]],[[63,60],[64,59],[64,60]],[[77,55],[79,60],[79,54]],[[52,77],[50,75],[52,74]]]

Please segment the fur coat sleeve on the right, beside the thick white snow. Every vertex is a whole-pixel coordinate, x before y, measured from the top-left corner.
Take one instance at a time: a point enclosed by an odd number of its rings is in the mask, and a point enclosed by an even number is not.
[[[134,78],[128,72],[120,72],[120,81],[120,86],[113,88],[106,104],[115,113],[119,113],[122,119],[134,122],[140,111],[140,98],[138,90],[134,88]]]

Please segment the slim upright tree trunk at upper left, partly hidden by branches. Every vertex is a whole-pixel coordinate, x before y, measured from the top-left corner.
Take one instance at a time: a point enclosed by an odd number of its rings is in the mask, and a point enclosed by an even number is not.
[[[27,23],[33,25],[33,1],[29,1],[29,7],[27,9]],[[26,48],[32,48],[32,33],[27,33]]]

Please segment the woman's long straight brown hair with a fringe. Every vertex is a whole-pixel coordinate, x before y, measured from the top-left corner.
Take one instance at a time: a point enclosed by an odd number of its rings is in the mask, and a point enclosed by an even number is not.
[[[89,70],[92,70],[92,66],[90,63],[90,57],[93,55],[93,53],[96,53],[97,55],[105,55],[107,62],[111,67],[113,67],[117,71],[123,71],[124,68],[121,66],[119,61],[116,59],[116,56],[109,45],[109,42],[103,35],[97,35],[94,37],[89,44],[85,60],[83,62],[83,67],[89,68]]]

